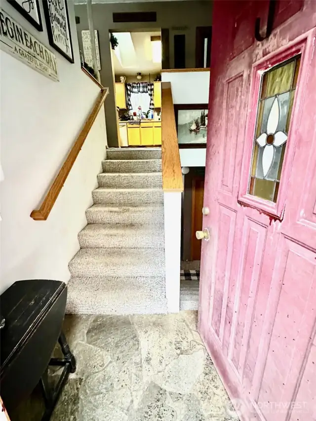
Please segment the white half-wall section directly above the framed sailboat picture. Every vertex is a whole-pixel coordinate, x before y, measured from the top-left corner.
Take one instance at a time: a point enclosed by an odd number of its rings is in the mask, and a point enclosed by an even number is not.
[[[161,72],[171,82],[173,104],[208,104],[210,72]]]

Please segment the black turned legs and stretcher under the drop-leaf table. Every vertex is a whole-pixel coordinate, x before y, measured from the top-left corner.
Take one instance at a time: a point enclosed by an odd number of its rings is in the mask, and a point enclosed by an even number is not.
[[[67,382],[69,373],[75,373],[76,371],[76,359],[69,348],[69,345],[66,341],[63,332],[60,333],[58,343],[64,354],[64,358],[51,358],[48,366],[59,366],[64,367],[64,369],[59,377],[58,383],[54,388],[52,388],[48,382],[48,367],[46,368],[45,372],[40,378],[40,387],[45,403],[45,412],[42,416],[41,421],[50,420],[50,417],[54,411],[60,393],[65,383]]]

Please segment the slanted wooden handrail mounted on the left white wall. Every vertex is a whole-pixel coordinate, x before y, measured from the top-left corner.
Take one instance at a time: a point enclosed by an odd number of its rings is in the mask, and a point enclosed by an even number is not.
[[[53,184],[48,190],[42,204],[40,205],[40,209],[34,210],[31,213],[30,216],[35,221],[46,221],[46,219],[48,218],[48,215],[50,211],[52,210],[52,207],[54,206],[54,203],[58,197],[58,194],[60,193],[62,187],[64,186],[64,183],[68,177],[68,174],[70,173],[70,170],[72,169],[76,161],[76,158],[80,152],[80,149],[82,148],[82,145],[86,137],[88,136],[88,133],[94,123],[94,120],[96,119],[96,116],[98,115],[108,93],[109,93],[109,88],[102,87],[90,115],[86,119],[84,126],[82,127],[82,130],[80,131],[79,136],[74,146],[72,147],[72,150],[68,154],[63,166],[61,167]]]

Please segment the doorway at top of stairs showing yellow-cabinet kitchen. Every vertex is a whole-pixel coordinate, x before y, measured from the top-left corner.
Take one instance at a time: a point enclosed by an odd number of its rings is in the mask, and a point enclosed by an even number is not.
[[[118,144],[161,145],[160,30],[110,32]]]

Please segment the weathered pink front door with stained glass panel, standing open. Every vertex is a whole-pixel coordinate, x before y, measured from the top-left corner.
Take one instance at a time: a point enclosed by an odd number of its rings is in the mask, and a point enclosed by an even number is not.
[[[199,332],[240,420],[315,421],[316,1],[269,4],[214,1]]]

